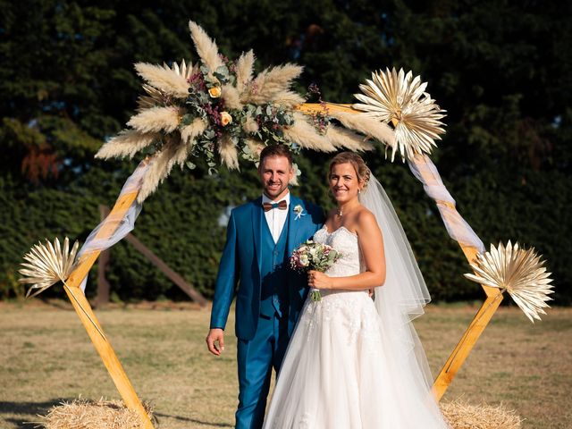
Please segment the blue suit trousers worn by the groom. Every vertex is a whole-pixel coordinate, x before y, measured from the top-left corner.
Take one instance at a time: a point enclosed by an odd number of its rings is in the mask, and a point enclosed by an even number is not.
[[[252,340],[238,340],[239,408],[237,429],[259,429],[265,418],[272,369],[276,374],[288,347],[288,315],[260,315]]]

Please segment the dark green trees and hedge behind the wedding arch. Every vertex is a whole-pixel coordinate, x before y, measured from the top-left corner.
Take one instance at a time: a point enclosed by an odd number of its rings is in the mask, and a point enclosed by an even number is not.
[[[21,296],[21,256],[44,237],[85,239],[136,162],[93,156],[133,113],[138,61],[197,61],[187,22],[221,51],[254,48],[257,68],[296,62],[324,99],[348,103],[369,72],[403,67],[448,111],[433,155],[458,209],[485,243],[518,240],[548,260],[559,304],[572,300],[572,38],[567,2],[0,0],[0,297]],[[296,192],[326,208],[329,156],[304,153]],[[467,262],[407,165],[366,159],[392,198],[434,299],[477,299]],[[212,294],[219,217],[257,196],[255,172],[173,172],[136,235]],[[108,273],[117,299],[186,299],[126,243]],[[95,290],[95,269],[89,294]],[[47,296],[59,293],[46,292]]]

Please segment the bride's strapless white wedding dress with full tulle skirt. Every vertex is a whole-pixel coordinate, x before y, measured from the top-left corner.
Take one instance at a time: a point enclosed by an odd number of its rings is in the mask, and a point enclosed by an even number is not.
[[[360,273],[357,235],[344,227],[332,233],[324,227],[314,240],[342,254],[328,275]],[[383,325],[367,291],[321,290],[321,295],[322,300],[308,298],[304,305],[278,374],[265,429],[448,427],[424,368],[411,363],[418,350],[400,327]]]

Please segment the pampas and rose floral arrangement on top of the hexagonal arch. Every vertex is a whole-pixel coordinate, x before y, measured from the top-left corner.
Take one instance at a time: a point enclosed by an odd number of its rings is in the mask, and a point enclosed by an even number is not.
[[[329,112],[325,103],[317,112],[301,109],[305,97],[290,88],[301,66],[287,63],[255,76],[252,51],[231,61],[219,54],[214,40],[195,22],[189,22],[189,29],[199,63],[135,64],[146,81],[138,113],[96,155],[107,159],[152,154],[139,202],[155,191],[174,165],[192,169],[198,159],[215,172],[220,164],[238,169],[240,158],[257,163],[260,151],[271,143],[288,145],[295,153],[302,148],[370,150],[370,135],[392,144],[390,127],[366,114],[349,118]],[[332,124],[330,118],[346,129]],[[372,127],[376,130],[370,132]],[[299,176],[296,170],[294,180]]]

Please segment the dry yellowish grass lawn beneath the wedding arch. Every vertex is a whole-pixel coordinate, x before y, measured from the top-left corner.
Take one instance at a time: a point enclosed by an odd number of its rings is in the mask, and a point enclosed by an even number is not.
[[[433,374],[475,312],[429,307],[416,323]],[[223,357],[215,358],[204,341],[209,310],[165,304],[96,314],[139,397],[153,403],[160,427],[233,426],[233,329],[227,330]],[[525,428],[572,427],[572,308],[549,309],[543,319],[530,324],[517,308],[501,308],[444,400],[502,402],[526,418]],[[0,302],[0,328],[0,428],[31,429],[38,414],[61,400],[119,398],[77,315],[63,301]]]

